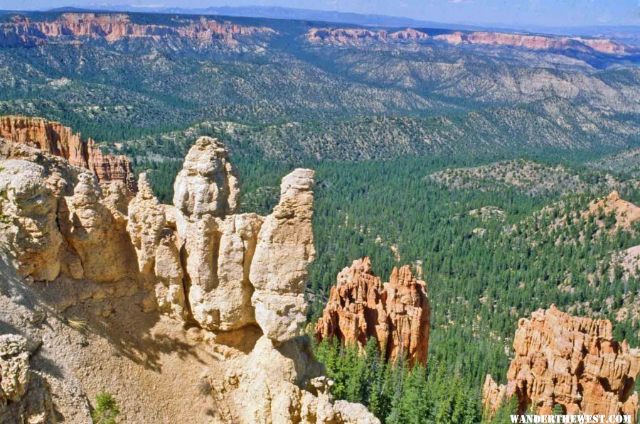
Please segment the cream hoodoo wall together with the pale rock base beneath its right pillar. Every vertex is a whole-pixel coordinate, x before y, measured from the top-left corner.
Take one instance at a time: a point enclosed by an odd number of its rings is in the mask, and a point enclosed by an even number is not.
[[[138,184],[127,197],[122,183],[100,187],[90,170],[0,138],[0,246],[36,284],[137,285],[133,291],[146,296],[141,310],[196,324],[210,339],[234,334],[220,337],[238,342],[259,331],[255,345],[225,358],[227,375],[212,381],[213,396],[229,406],[228,422],[379,423],[361,405],[331,400],[324,369],[299,336],[315,254],[313,170],[282,179],[267,217],[236,213],[238,175],[214,138],[199,138],[189,151],[175,205],[161,205],[144,173]],[[13,405],[28,383],[18,368],[2,380],[19,382],[6,391]]]

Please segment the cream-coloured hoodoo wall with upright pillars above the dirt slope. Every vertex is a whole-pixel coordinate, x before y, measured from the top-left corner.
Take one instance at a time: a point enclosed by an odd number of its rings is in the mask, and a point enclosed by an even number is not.
[[[43,134],[53,131],[40,123]],[[201,137],[176,178],[174,205],[161,205],[144,173],[130,197],[124,183],[101,186],[96,173],[60,159],[83,164],[68,148],[46,153],[75,144],[28,147],[26,140],[53,139],[29,131],[12,131],[18,141],[0,144],[3,213],[14,224],[4,238],[23,275],[137,278],[154,290],[157,308],[207,330],[260,325],[275,342],[299,335],[315,255],[313,170],[282,179],[280,202],[267,217],[238,214],[240,182],[228,152]],[[80,143],[67,129],[60,134]]]

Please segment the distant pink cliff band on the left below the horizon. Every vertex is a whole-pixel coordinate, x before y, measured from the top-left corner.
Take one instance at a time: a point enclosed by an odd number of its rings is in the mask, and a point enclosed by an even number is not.
[[[33,21],[16,15],[0,23],[0,46],[38,45],[48,39],[78,40],[97,38],[114,43],[126,38],[182,37],[199,44],[216,40],[233,43],[241,36],[275,33],[271,28],[242,26],[213,19],[173,19],[175,25],[134,23],[125,13],[63,13],[53,21]]]

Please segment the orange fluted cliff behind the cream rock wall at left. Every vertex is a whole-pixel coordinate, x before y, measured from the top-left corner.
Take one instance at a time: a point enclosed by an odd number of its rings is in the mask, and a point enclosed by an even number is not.
[[[26,116],[0,116],[0,138],[41,149],[71,165],[91,170],[100,183],[122,181],[136,191],[131,163],[126,156],[104,155],[91,138],[83,140],[59,122]]]

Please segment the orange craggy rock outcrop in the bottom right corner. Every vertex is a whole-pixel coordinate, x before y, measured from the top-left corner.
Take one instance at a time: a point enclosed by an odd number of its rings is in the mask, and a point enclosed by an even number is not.
[[[553,305],[521,319],[508,383],[498,386],[486,376],[486,411],[491,415],[516,396],[519,413],[530,408],[549,414],[560,404],[567,414],[628,414],[635,420],[640,349],[614,340],[612,330],[609,320],[572,317]]]

